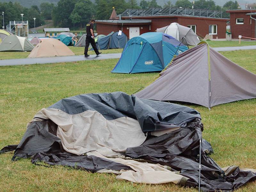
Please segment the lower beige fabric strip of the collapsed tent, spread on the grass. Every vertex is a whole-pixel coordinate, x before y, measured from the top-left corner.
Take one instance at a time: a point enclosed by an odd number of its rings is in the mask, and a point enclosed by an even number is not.
[[[108,159],[110,161],[118,162],[124,165],[127,165],[132,168],[132,170],[108,170],[103,169],[98,171],[98,173],[115,173],[119,174],[116,179],[128,180],[134,183],[147,183],[147,184],[160,184],[173,182],[175,184],[184,184],[187,177],[184,177],[177,172],[172,172],[167,169],[167,166],[160,164],[150,164],[150,163],[141,163],[134,160],[126,160],[121,158],[107,158],[100,155],[96,151],[86,153],[87,156],[98,156],[101,158]],[[157,178],[157,179],[156,179]]]

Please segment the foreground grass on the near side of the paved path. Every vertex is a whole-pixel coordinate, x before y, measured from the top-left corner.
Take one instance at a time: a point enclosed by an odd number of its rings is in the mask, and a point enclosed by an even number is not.
[[[221,53],[256,73],[255,50]],[[36,112],[62,98],[90,92],[131,94],[157,75],[112,74],[116,62],[115,59],[0,67],[0,148],[18,144]],[[211,111],[198,105],[187,106],[201,113],[203,137],[212,144],[215,151],[212,158],[221,167],[256,168],[256,99],[222,104]],[[11,162],[12,155],[12,152],[0,155],[0,191],[197,191],[172,183],[136,184],[116,180],[114,174],[36,166],[29,159]],[[255,191],[254,181],[236,192]]]

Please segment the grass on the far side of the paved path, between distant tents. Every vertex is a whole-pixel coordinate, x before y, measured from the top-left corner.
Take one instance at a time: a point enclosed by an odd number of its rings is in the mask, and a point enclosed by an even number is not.
[[[246,45],[256,45],[256,41],[242,41],[241,44],[238,41],[207,41],[211,47],[236,47],[236,46],[246,46]],[[193,46],[189,46],[191,48]],[[76,55],[84,54],[84,47],[73,47],[69,46],[69,48]],[[101,50],[102,53],[121,53],[123,49],[109,49],[109,50]],[[30,52],[0,52],[0,60],[4,59],[21,59],[27,58]],[[88,54],[94,55],[94,51],[89,51]]]

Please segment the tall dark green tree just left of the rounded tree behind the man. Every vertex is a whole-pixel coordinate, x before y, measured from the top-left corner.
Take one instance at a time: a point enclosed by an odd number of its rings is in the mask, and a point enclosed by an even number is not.
[[[52,20],[55,26],[71,27],[72,21],[69,19],[70,14],[75,8],[77,0],[60,0],[52,11]]]

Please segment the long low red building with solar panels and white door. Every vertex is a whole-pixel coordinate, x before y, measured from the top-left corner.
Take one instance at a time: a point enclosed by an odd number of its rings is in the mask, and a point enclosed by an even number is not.
[[[108,34],[112,30],[122,30],[129,38],[146,32],[154,32],[170,23],[190,27],[201,38],[212,34],[213,38],[226,38],[227,18],[222,12],[210,10],[191,10],[183,8],[164,8],[148,10],[127,9],[117,20],[96,20],[97,33]]]

